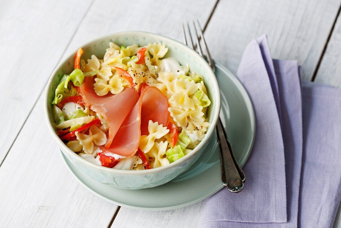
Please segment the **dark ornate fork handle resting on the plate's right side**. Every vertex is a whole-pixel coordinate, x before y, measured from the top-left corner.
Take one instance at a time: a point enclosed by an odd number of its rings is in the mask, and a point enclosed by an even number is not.
[[[240,192],[244,188],[245,175],[236,161],[220,118],[216,131],[223,185],[231,192]]]

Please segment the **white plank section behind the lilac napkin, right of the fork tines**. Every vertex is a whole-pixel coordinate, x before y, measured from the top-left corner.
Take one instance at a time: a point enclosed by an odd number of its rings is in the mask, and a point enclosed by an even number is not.
[[[272,56],[297,59],[310,80],[339,5],[340,0],[221,0],[206,39],[214,59],[235,73],[245,46],[266,33]]]

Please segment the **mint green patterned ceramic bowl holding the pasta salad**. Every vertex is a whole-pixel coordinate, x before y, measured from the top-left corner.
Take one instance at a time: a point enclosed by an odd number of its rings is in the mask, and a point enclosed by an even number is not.
[[[171,38],[150,32],[117,32],[92,40],[84,45],[81,45],[81,48],[84,50],[82,58],[85,60],[89,59],[92,54],[96,55],[99,59],[103,58],[105,50],[109,47],[109,42],[114,42],[119,46],[128,46],[134,43],[137,43],[139,46],[145,46],[148,43],[161,42],[168,48],[168,52],[165,57],[174,57],[180,62],[181,65],[186,65],[187,63],[189,64],[191,71],[195,71],[196,73],[202,75],[205,80],[208,96],[211,100],[211,105],[209,106],[207,112],[210,126],[205,138],[190,154],[184,156],[176,162],[171,163],[168,166],[150,170],[130,171],[110,169],[93,164],[79,157],[57,136],[53,127],[54,121],[51,109],[51,102],[55,96],[54,93],[58,82],[65,73],[72,72],[74,67],[74,55],[77,50],[73,51],[68,57],[63,59],[63,61],[53,71],[47,83],[44,105],[48,128],[65,157],[68,158],[72,164],[74,164],[86,175],[103,184],[112,185],[114,187],[123,189],[151,188],[165,184],[191,167],[191,165],[202,155],[214,133],[220,112],[220,91],[216,76],[205,59],[203,59],[200,55],[198,55],[198,53],[190,49],[188,46]]]

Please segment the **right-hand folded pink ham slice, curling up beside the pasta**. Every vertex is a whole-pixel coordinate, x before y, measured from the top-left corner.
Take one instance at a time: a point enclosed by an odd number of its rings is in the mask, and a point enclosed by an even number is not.
[[[138,102],[120,126],[110,147],[102,146],[100,149],[125,157],[134,155],[138,149],[141,134],[148,135],[149,120],[163,126],[167,126],[169,122],[167,97],[154,86],[148,86],[143,90]]]

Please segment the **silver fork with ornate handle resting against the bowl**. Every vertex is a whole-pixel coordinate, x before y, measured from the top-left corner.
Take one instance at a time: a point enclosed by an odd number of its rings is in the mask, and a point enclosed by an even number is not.
[[[185,29],[184,24],[187,25],[187,29]],[[192,45],[192,47],[190,46],[190,48],[194,50],[198,50],[199,55],[205,58],[201,44],[200,44],[200,41],[202,41],[202,44],[206,52],[205,59],[214,72],[216,67],[214,66],[214,62],[207,49],[207,45],[206,45],[203,31],[201,29],[199,21],[193,20],[193,30],[194,30],[193,34],[194,34],[194,39],[196,42],[195,45],[193,43],[192,33],[191,33],[189,23],[185,22],[185,23],[181,23],[181,25],[182,25],[182,36],[183,36],[184,44],[188,45],[187,38],[186,38],[186,33],[188,33],[187,36],[189,37],[189,41]],[[199,31],[199,34],[197,31]],[[223,125],[222,125],[220,117],[217,123],[216,132],[218,136],[217,141],[218,141],[218,149],[219,149],[219,154],[220,154],[221,178],[222,178],[223,185],[231,192],[240,192],[244,188],[245,174],[240,168],[240,166],[238,165],[238,162],[234,156],[231,144],[228,142],[227,135],[223,129]]]

